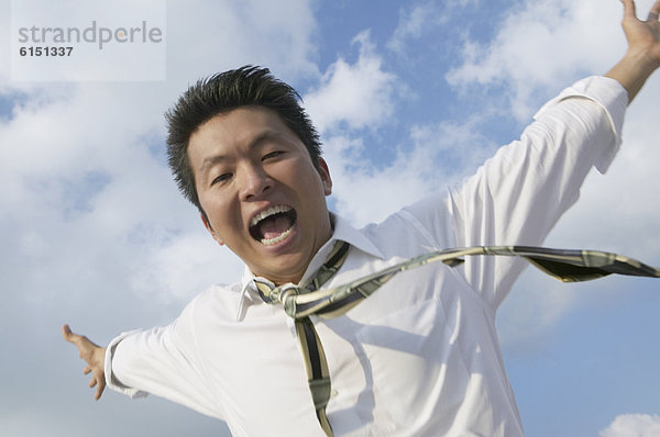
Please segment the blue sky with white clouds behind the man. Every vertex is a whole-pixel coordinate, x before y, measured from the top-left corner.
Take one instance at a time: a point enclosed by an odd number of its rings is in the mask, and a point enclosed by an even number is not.
[[[652,1],[637,3],[646,14]],[[617,0],[169,0],[166,80],[21,81],[6,61],[10,4],[0,0],[3,436],[226,433],[157,399],[95,403],[59,335],[70,323],[105,344],[168,323],[242,272],[166,168],[163,112],[188,83],[244,64],[292,83],[322,135],[330,204],[363,225],[460,183],[546,100],[625,49]],[[630,107],[612,168],[587,178],[548,246],[660,266],[657,96],[658,76]],[[529,436],[660,433],[659,289],[524,273],[498,329]]]

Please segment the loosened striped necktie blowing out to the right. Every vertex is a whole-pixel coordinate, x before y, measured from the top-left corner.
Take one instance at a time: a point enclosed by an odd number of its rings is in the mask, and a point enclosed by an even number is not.
[[[613,273],[660,278],[658,268],[606,251],[531,246],[475,246],[430,251],[346,284],[320,290],[321,285],[339,270],[346,258],[348,250],[349,244],[338,240],[326,264],[312,276],[307,285],[286,283],[275,287],[263,278],[254,279],[262,299],[267,303],[282,303],[286,314],[296,321],[317,417],[328,436],[332,436],[326,416],[326,405],[331,392],[330,377],[321,341],[309,316],[314,314],[323,318],[338,317],[369,298],[398,272],[438,261],[449,267],[457,267],[464,262],[465,257],[481,255],[524,258],[562,282],[588,281]]]

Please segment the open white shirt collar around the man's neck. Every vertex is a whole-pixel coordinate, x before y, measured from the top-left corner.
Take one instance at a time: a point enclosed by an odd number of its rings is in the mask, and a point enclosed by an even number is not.
[[[309,266],[307,266],[307,270],[302,276],[302,281],[305,281],[310,274],[312,274],[321,265],[326,261],[326,258],[334,242],[341,239],[343,242],[349,243],[352,247],[372,255],[376,258],[383,259],[383,253],[376,245],[369,239],[362,232],[355,229],[351,224],[344,218],[340,217],[334,213],[330,213],[330,221],[333,225],[334,232],[332,236],[326,244],[319,249],[319,251],[314,256]],[[254,285],[254,273],[250,271],[250,268],[245,266],[243,270],[243,277],[241,279],[241,296],[239,300],[239,305],[237,309],[237,322],[240,322],[245,316],[245,310],[251,305],[265,304],[262,298]]]

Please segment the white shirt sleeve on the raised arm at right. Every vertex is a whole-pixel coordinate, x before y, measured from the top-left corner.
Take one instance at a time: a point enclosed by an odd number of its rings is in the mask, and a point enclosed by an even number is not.
[[[627,104],[616,80],[583,79],[546,103],[518,141],[499,148],[449,197],[437,199],[436,210],[449,220],[411,210],[455,247],[541,245],[578,200],[590,169],[607,170],[622,143]],[[497,307],[525,266],[509,257],[468,257],[457,271]]]

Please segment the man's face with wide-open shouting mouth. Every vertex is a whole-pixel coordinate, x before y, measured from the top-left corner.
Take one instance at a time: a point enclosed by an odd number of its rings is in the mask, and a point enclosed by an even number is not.
[[[254,274],[298,282],[332,234],[332,181],[276,112],[261,107],[212,117],[190,136],[188,157],[207,228]]]

